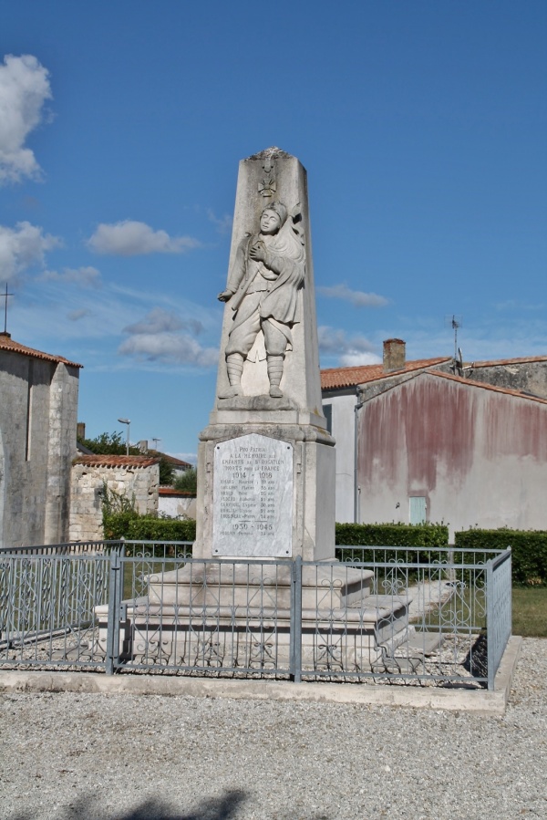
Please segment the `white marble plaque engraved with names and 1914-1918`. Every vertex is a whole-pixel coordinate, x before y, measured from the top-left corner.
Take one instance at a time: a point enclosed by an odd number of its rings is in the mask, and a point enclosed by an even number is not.
[[[293,445],[252,433],[214,448],[212,555],[293,554]]]

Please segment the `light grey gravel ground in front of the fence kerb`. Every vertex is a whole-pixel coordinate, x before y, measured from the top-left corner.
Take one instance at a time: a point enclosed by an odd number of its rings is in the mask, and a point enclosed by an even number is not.
[[[0,709],[3,820],[547,816],[547,640],[524,640],[503,718],[71,692]]]

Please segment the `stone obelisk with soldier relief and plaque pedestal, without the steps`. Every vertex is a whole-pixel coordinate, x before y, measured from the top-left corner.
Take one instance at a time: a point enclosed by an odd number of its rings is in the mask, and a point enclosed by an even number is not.
[[[335,441],[321,409],[306,172],[277,148],[240,162],[219,299],[194,556],[332,560]]]

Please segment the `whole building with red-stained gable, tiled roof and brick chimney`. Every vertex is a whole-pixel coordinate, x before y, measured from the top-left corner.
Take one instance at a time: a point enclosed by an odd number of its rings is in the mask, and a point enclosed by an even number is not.
[[[322,371],[338,521],[547,528],[547,357]]]

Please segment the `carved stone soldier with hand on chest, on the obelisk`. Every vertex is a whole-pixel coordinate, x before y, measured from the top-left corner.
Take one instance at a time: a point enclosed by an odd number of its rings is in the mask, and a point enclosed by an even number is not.
[[[292,349],[291,328],[297,322],[298,291],[304,285],[305,255],[296,220],[287,219],[282,202],[267,205],[260,233],[245,236],[239,244],[226,290],[234,316],[224,351],[230,388],[221,399],[242,395],[245,358],[263,331],[270,396],[281,398],[286,350]]]

